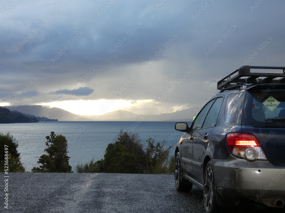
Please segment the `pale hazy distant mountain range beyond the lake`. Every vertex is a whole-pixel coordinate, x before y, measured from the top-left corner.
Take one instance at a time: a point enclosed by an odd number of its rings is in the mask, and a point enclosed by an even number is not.
[[[103,115],[77,115],[66,110],[42,106],[42,105],[21,105],[5,106],[9,110],[17,110],[25,114],[58,119],[58,121],[184,121],[192,122],[193,116],[196,115],[194,108],[180,110],[172,113],[163,113],[159,115],[138,115],[125,110],[108,112]]]

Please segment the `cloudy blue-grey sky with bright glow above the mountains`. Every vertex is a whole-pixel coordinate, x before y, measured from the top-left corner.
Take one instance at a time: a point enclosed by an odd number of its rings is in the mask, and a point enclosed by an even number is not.
[[[283,0],[2,0],[0,105],[197,107],[243,64],[285,66]]]

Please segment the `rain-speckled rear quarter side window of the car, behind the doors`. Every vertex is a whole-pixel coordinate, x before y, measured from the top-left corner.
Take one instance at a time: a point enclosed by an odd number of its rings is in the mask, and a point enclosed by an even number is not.
[[[241,124],[245,93],[229,94],[225,105],[224,120],[227,124]]]

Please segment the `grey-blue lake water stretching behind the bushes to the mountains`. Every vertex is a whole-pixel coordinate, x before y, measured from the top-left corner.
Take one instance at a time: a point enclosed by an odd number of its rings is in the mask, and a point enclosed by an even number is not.
[[[72,171],[78,162],[89,162],[103,158],[109,143],[115,142],[120,130],[138,133],[142,143],[149,138],[156,142],[166,140],[166,145],[175,145],[183,132],[174,129],[175,122],[135,122],[135,121],[58,121],[39,123],[0,124],[0,132],[10,132],[18,141],[18,152],[26,171],[31,171],[42,154],[46,154],[46,136],[54,131],[68,140],[69,164]]]

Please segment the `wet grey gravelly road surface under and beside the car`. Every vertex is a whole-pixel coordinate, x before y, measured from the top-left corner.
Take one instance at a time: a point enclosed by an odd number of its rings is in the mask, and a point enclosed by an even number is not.
[[[4,178],[3,178],[4,179]],[[1,181],[1,197],[4,197]],[[2,190],[3,189],[3,190]],[[187,212],[203,210],[202,190],[175,190],[173,175],[9,173],[9,209],[0,212]],[[226,212],[284,212],[243,201]]]

